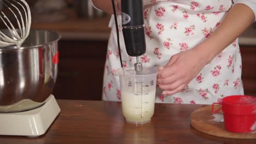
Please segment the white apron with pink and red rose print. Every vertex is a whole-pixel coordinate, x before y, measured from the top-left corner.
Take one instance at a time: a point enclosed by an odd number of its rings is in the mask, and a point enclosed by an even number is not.
[[[208,38],[232,7],[231,0],[144,0],[146,53],[139,57],[143,66],[165,66],[178,52],[193,49]],[[121,56],[124,67],[133,67],[135,57],[126,53],[118,17]],[[119,101],[121,92],[115,70],[121,67],[115,23],[110,20],[110,33],[104,71],[103,100]],[[220,52],[182,92],[162,95],[157,88],[156,103],[212,104],[228,95],[243,94],[241,53],[238,39]]]

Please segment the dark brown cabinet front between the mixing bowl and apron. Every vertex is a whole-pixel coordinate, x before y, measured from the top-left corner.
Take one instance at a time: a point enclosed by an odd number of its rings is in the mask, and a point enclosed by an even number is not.
[[[107,41],[61,40],[59,52],[55,97],[101,100]]]

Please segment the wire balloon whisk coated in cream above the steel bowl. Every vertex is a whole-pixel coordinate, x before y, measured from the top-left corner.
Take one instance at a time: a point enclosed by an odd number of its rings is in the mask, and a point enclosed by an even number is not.
[[[8,28],[11,37],[8,37],[8,35],[5,35],[3,32],[0,31],[0,47],[5,47],[9,45],[16,45],[20,47],[30,34],[30,7],[25,0],[0,0],[0,2],[3,3],[3,5],[11,11],[19,27],[19,29],[16,29],[13,23],[10,22],[9,18],[3,13],[3,11],[1,11],[0,21],[3,21],[4,25]],[[10,7],[8,7],[8,5],[10,5]],[[22,10],[20,10],[19,8]],[[14,13],[14,9],[18,11],[18,15]],[[22,13],[24,13],[25,16],[22,16]],[[18,16],[20,16],[20,20]]]

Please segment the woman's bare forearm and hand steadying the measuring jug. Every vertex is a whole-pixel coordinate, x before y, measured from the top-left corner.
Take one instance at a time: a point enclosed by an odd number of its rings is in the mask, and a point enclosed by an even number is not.
[[[207,63],[251,25],[254,18],[252,9],[247,5],[235,4],[210,37],[193,49],[172,56],[158,74],[158,85],[164,89],[163,94],[182,91]]]

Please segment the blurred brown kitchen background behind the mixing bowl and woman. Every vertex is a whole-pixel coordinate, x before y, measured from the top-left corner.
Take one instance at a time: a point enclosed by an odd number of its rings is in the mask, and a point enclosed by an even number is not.
[[[31,8],[32,29],[55,31],[62,35],[59,71],[53,92],[55,97],[101,100],[110,15],[92,7],[89,0],[26,1]],[[0,9],[10,14],[1,2]],[[15,18],[10,17],[10,21],[15,21]],[[6,27],[1,21],[0,29],[3,28]],[[239,43],[245,94],[256,96],[255,24],[241,35]]]

